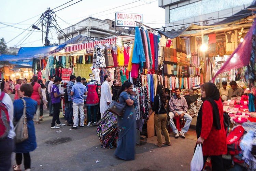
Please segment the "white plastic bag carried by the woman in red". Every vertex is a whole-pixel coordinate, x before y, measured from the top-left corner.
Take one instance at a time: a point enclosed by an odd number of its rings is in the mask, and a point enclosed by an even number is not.
[[[197,144],[196,151],[190,162],[190,171],[201,171],[203,169],[202,145]]]

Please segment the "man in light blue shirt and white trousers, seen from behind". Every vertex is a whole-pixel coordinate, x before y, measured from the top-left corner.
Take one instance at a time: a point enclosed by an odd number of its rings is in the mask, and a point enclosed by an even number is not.
[[[87,95],[87,88],[82,83],[81,76],[76,77],[76,84],[73,85],[70,95],[73,96],[73,127],[77,129],[78,126],[78,110],[80,111],[80,126],[84,127],[84,95]]]

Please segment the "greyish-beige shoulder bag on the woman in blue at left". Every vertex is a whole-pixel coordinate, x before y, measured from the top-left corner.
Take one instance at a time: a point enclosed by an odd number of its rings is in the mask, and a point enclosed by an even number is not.
[[[21,143],[28,139],[28,125],[27,125],[27,116],[26,116],[26,101],[21,98],[24,103],[23,115],[17,122],[14,122],[14,131],[16,133],[15,143]]]

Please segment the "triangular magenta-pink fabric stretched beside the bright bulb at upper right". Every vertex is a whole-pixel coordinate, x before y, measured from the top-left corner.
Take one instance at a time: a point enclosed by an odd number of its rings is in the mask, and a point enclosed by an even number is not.
[[[213,81],[215,80],[215,77],[220,73],[249,65],[250,58],[251,58],[251,51],[252,51],[252,36],[253,36],[253,30],[255,26],[256,26],[256,22],[253,23],[249,32],[246,34],[244,41],[238,45],[238,47],[232,53],[232,55],[228,58],[226,63],[224,63],[221,69],[219,69],[218,72],[214,75],[212,79]]]

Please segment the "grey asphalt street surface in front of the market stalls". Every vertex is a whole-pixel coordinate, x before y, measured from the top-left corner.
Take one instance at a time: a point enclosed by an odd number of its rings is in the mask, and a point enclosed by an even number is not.
[[[41,124],[35,124],[37,149],[31,152],[31,170],[189,170],[196,141],[189,138],[174,139],[172,146],[154,146],[156,137],[147,139],[147,143],[136,146],[136,158],[124,161],[114,156],[115,149],[103,149],[96,134],[96,127],[79,127],[71,130],[50,129],[52,117],[48,110]],[[61,116],[61,122],[65,120]],[[195,134],[195,132],[191,132]],[[97,162],[98,160],[98,162]],[[15,155],[12,155],[15,164]],[[136,166],[136,167],[134,167]]]

